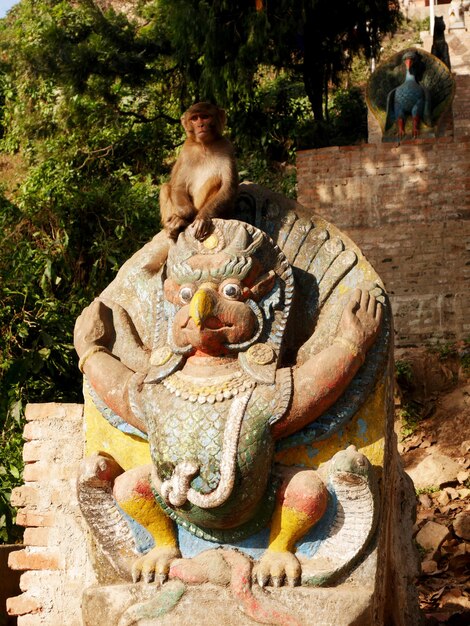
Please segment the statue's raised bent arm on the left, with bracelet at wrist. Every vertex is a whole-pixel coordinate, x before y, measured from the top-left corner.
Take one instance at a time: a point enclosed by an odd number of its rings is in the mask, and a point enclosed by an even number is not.
[[[110,409],[128,424],[146,432],[129,403],[128,385],[134,372],[107,348],[113,337],[112,311],[95,300],[75,323],[74,345],[80,357],[80,369]]]

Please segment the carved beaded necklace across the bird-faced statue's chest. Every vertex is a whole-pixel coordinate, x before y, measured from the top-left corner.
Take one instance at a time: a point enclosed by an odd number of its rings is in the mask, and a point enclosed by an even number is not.
[[[204,383],[195,382],[194,377],[183,372],[175,372],[162,382],[175,396],[199,404],[223,402],[256,385],[251,377],[240,371],[226,376],[214,376]]]

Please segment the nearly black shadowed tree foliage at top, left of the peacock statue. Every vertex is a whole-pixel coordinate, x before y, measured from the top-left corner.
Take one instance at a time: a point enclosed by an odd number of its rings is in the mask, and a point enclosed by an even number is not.
[[[382,38],[396,30],[400,16],[398,0],[275,0],[265,10],[271,61],[302,73],[319,122],[330,83],[338,84],[355,55],[377,56]]]

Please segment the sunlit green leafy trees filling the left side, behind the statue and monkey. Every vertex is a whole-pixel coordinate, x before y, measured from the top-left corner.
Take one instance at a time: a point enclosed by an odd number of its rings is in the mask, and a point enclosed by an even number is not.
[[[23,0],[0,48],[1,147],[28,165],[0,193],[0,539],[12,540],[24,404],[79,401],[74,321],[158,230],[158,184],[181,132],[167,58],[125,16]]]

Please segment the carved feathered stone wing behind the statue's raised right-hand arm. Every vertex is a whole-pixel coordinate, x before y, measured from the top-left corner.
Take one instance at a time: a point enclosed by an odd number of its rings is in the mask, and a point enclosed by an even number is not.
[[[381,299],[381,335],[341,398],[320,418],[278,442],[278,449],[327,439],[364,405],[387,366],[391,314],[383,284],[359,248],[335,226],[257,185],[242,184],[241,219],[265,230],[293,267],[294,302],[283,342],[283,364],[305,362],[333,341],[352,291],[369,289]]]

